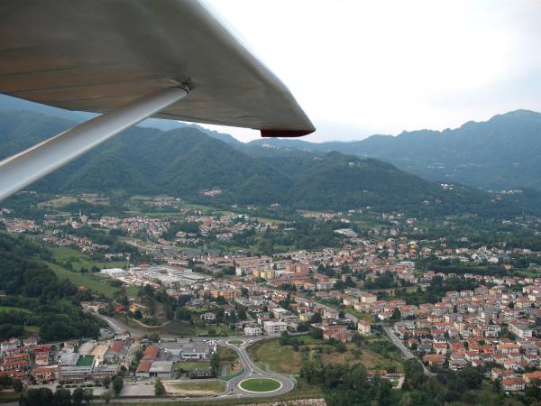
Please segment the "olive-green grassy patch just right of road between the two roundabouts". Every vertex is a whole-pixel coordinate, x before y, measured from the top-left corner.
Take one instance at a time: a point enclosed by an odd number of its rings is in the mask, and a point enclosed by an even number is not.
[[[302,366],[302,355],[291,346],[280,346],[278,339],[264,340],[248,348],[253,359],[280,374],[298,374]]]

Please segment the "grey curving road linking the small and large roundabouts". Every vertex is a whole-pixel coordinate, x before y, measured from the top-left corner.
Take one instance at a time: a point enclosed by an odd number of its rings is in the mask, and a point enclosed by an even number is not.
[[[120,333],[124,331],[129,331],[132,336],[135,337],[142,337],[147,332],[144,332],[142,330],[139,330],[137,328],[132,328],[130,326],[126,326],[122,321],[116,319],[107,317],[104,315],[96,315],[97,317],[105,320],[107,324],[115,331],[115,333]],[[170,336],[175,337],[175,336]],[[164,337],[165,338],[165,337]],[[176,338],[176,337],[175,337]],[[223,400],[223,399],[240,399],[240,398],[250,398],[250,397],[271,397],[271,396],[279,396],[281,394],[287,393],[293,389],[295,389],[296,381],[294,378],[289,377],[287,375],[282,374],[276,374],[269,371],[263,371],[251,358],[251,356],[247,352],[247,348],[249,346],[252,346],[257,341],[261,341],[264,339],[270,339],[275,338],[275,336],[259,336],[259,337],[215,337],[211,338],[216,341],[216,344],[219,346],[226,346],[229,348],[232,348],[237,355],[239,356],[239,361],[241,364],[243,364],[243,374],[240,374],[238,376],[235,376],[233,379],[229,380],[227,382],[227,387],[225,389],[225,392],[216,395],[216,396],[206,396],[206,397],[200,397],[200,398],[176,398],[174,396],[168,397],[168,398],[141,398],[141,399],[115,399],[115,402],[117,403],[151,403],[151,402],[164,402],[164,401],[216,401],[216,400]],[[207,341],[209,337],[192,337],[193,341]],[[232,340],[241,340],[243,341],[242,345],[233,345],[228,344],[229,341]],[[248,392],[244,391],[239,383],[241,383],[244,379],[247,378],[271,378],[275,379],[278,382],[281,383],[281,386],[276,391],[272,392]]]

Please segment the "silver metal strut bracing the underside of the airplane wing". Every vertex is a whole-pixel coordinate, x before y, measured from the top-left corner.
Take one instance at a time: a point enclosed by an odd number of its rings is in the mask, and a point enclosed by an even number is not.
[[[187,96],[188,88],[157,90],[0,161],[0,200]]]

